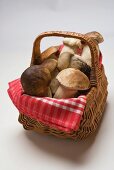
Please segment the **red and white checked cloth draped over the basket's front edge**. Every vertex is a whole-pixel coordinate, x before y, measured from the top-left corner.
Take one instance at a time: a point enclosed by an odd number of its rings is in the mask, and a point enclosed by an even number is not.
[[[86,96],[54,99],[26,95],[22,89],[20,79],[9,83],[8,94],[21,113],[65,132],[71,132],[79,128],[86,105]]]

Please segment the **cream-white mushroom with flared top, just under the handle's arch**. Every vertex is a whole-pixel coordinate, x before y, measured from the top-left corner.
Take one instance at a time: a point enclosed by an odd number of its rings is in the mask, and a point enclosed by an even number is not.
[[[63,40],[64,47],[60,54],[64,52],[69,52],[71,54],[77,53],[78,48],[82,48],[81,40],[77,38],[64,38]]]

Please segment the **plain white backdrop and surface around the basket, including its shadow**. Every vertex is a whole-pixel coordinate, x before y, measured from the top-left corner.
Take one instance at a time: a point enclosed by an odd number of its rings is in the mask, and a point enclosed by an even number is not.
[[[82,142],[25,131],[7,95],[7,83],[29,66],[34,39],[48,30],[96,30],[105,39],[100,48],[109,81],[107,107],[97,133]],[[45,39],[42,47],[54,40]],[[0,169],[113,170],[113,76],[113,0],[0,0]]]

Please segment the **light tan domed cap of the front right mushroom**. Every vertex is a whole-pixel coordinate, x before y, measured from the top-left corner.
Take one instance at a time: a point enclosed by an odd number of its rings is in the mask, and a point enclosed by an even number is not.
[[[62,86],[71,90],[86,90],[90,85],[88,77],[74,68],[62,70],[56,78]]]

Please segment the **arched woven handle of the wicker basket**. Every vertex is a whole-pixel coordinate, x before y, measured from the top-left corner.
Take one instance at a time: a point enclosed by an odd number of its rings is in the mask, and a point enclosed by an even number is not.
[[[34,44],[33,44],[31,65],[34,65],[35,63],[37,63],[36,61],[40,63],[40,59],[41,59],[40,58],[40,55],[41,55],[40,42],[42,38],[49,37],[49,36],[78,38],[81,41],[85,42],[90,47],[91,56],[92,56],[90,83],[91,83],[91,86],[97,86],[98,75],[100,73],[100,69],[99,69],[99,56],[98,56],[97,49],[96,49],[96,43],[92,38],[84,34],[75,33],[75,32],[66,32],[66,31],[49,31],[49,32],[41,33],[35,39]]]

